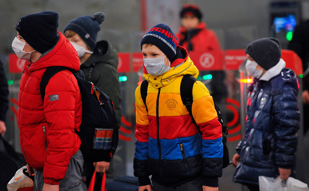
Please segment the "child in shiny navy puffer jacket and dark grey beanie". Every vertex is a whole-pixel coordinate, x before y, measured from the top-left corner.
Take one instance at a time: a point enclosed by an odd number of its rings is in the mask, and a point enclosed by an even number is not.
[[[298,82],[285,68],[278,39],[262,38],[248,44],[246,69],[254,78],[248,88],[245,135],[236,147],[234,182],[259,190],[259,176],[294,175],[300,114]]]

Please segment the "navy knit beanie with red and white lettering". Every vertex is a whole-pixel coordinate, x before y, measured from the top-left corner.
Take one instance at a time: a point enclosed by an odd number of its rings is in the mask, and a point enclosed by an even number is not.
[[[143,44],[153,44],[158,47],[169,60],[173,60],[176,55],[178,39],[165,24],[158,24],[152,27],[142,38],[141,49]]]

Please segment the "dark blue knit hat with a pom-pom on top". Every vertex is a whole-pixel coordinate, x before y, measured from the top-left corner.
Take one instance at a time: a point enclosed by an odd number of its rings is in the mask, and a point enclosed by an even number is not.
[[[94,50],[98,32],[101,30],[100,24],[104,19],[105,14],[103,12],[97,12],[93,17],[90,15],[78,17],[66,25],[63,33],[67,30],[76,32],[85,41],[89,48]]]

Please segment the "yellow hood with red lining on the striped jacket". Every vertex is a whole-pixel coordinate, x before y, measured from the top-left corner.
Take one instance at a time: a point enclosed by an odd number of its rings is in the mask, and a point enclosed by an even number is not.
[[[178,55],[176,54],[178,57],[171,63],[171,70],[166,73],[163,73],[160,76],[151,76],[147,73],[145,66],[143,66],[144,77],[153,87],[161,88],[170,84],[176,79],[176,77],[186,74],[190,74],[197,78],[199,73],[198,69],[188,57],[186,49],[181,46],[178,46],[177,49],[179,49]],[[158,84],[158,86],[156,87],[155,84]]]

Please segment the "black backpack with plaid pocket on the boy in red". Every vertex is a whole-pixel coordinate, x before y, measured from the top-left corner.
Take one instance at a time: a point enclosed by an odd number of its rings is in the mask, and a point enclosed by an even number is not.
[[[112,158],[118,144],[118,124],[112,100],[92,82],[83,78],[79,70],[77,75],[74,70],[63,66],[48,67],[43,74],[40,93],[44,103],[45,89],[49,79],[56,73],[69,70],[78,82],[82,98],[82,122],[79,131],[75,133],[81,139],[80,150],[85,162],[108,161]]]

